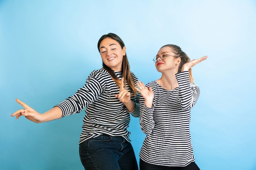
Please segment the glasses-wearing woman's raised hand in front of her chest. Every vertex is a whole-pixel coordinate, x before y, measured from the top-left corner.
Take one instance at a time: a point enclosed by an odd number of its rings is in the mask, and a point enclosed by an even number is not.
[[[143,82],[138,81],[136,90],[144,97],[144,104],[151,108],[153,105],[154,92],[151,87],[147,88]]]

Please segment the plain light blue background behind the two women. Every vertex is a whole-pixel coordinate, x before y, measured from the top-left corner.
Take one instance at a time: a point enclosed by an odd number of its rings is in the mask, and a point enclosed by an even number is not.
[[[177,44],[191,59],[201,94],[191,134],[201,170],[256,170],[255,0],[0,0],[0,169],[82,170],[79,135],[84,110],[36,124],[10,115],[43,113],[74,94],[101,68],[101,35],[126,44],[131,70],[158,79],[153,57]],[[145,135],[132,118],[138,158]]]

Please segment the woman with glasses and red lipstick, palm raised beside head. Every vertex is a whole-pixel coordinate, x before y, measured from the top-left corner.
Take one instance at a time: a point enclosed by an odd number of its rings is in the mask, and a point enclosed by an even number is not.
[[[140,170],[199,170],[189,124],[200,89],[193,83],[191,67],[206,59],[190,61],[179,46],[167,44],[153,60],[162,76],[146,86],[137,83],[140,126],[146,134],[139,153]]]

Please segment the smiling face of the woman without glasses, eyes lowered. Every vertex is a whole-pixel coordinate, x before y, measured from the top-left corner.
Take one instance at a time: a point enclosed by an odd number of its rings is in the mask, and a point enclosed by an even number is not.
[[[126,54],[126,47],[112,38],[105,38],[99,45],[101,59],[113,71],[122,71],[123,56]]]

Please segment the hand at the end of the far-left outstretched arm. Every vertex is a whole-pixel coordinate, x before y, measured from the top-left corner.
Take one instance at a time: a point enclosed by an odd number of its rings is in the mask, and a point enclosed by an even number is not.
[[[25,116],[27,119],[34,121],[36,123],[40,122],[40,117],[42,114],[38,113],[33,108],[29,107],[24,102],[21,102],[19,99],[16,99],[16,102],[23,106],[23,109],[17,110],[15,113],[13,113],[11,116],[16,116],[16,119],[18,119],[20,116]]]

